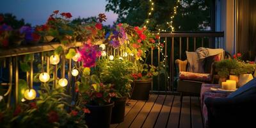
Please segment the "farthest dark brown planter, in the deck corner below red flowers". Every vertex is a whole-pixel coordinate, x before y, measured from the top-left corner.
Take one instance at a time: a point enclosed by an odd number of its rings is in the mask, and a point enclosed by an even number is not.
[[[131,99],[148,100],[152,79],[134,80]]]

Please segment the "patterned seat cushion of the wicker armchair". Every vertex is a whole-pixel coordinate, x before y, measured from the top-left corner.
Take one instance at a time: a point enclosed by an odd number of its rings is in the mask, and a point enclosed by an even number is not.
[[[211,74],[198,74],[194,72],[179,72],[179,79],[188,79],[192,81],[211,81]]]

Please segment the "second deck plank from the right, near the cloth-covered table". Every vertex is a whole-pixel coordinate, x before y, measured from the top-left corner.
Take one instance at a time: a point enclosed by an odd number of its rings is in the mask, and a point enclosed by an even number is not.
[[[190,97],[183,97],[182,108],[180,112],[180,128],[188,128],[191,126],[190,114]]]

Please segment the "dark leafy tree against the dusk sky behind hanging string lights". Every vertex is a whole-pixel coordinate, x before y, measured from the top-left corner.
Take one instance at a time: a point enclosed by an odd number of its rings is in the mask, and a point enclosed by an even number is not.
[[[148,17],[149,0],[106,0],[106,11],[118,14],[116,22],[126,22],[131,26],[143,26],[149,20],[151,30],[166,29],[176,6],[174,0],[152,0],[154,12]],[[180,0],[177,15],[173,20],[175,31],[209,30],[211,21],[211,3],[207,0]],[[170,29],[169,29],[170,30]]]

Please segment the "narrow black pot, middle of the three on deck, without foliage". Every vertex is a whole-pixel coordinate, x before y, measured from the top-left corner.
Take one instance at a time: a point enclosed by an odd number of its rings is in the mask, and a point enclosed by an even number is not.
[[[112,109],[111,124],[119,124],[124,122],[125,104],[127,97],[113,99],[115,106]]]

